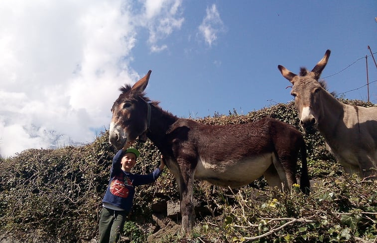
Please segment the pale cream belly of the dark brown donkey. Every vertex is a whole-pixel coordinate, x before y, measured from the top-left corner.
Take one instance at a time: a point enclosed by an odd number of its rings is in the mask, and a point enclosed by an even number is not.
[[[247,185],[266,171],[272,163],[272,153],[243,158],[240,161],[211,162],[199,159],[195,179],[206,180],[222,187]]]

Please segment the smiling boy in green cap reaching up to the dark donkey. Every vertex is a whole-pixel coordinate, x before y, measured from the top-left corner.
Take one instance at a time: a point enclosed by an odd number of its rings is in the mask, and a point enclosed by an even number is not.
[[[132,208],[135,186],[152,183],[165,166],[161,156],[160,165],[152,173],[132,174],[130,170],[139,155],[139,151],[130,148],[126,151],[120,150],[114,156],[109,186],[102,200],[99,243],[117,243],[120,240],[126,217]]]

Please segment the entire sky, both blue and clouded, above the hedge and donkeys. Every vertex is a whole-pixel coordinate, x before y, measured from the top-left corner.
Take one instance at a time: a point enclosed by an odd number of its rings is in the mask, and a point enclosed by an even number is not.
[[[368,55],[376,103],[376,17],[375,0],[1,1],[0,155],[92,142],[148,70],[147,96],[178,117],[247,114],[292,100],[277,65],[330,49],[330,91],[367,100]]]

